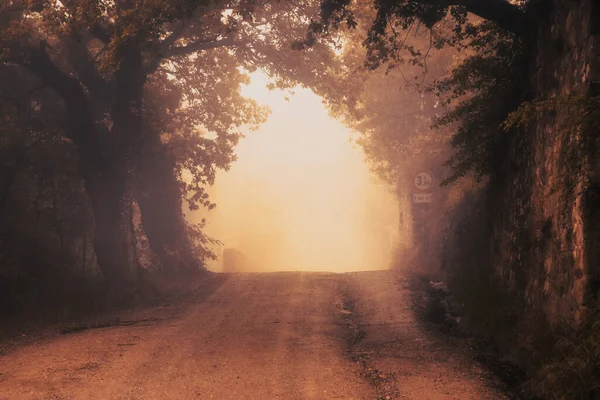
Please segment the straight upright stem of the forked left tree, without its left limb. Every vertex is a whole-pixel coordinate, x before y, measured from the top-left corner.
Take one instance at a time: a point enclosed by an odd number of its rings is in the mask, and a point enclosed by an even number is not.
[[[133,225],[133,179],[141,145],[142,96],[146,80],[142,54],[136,43],[123,44],[117,53],[115,103],[111,110],[112,129],[109,164],[96,194],[100,212],[96,218],[98,262],[120,271],[120,289],[133,289],[142,272],[137,257]],[[115,230],[118,234],[111,237]],[[115,240],[116,239],[116,240]],[[112,249],[112,252],[110,252]],[[107,258],[106,258],[107,257]],[[115,258],[116,257],[116,258]],[[102,259],[102,260],[101,260]],[[123,290],[120,290],[123,292]]]

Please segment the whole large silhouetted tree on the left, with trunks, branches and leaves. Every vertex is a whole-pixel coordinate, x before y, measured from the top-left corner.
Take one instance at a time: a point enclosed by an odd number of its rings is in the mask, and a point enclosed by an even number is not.
[[[212,183],[215,168],[233,161],[239,127],[264,117],[239,94],[247,80],[240,68],[278,77],[277,87],[299,81],[318,86],[319,71],[335,68],[335,40],[304,59],[291,50],[318,5],[192,0],[0,5],[1,62],[27,70],[64,107],[62,133],[79,154],[98,265],[116,293],[128,292],[141,271],[132,223],[136,195],[149,242],[165,267],[202,265],[190,254],[209,253],[189,246],[207,238],[196,232],[195,240],[186,239],[190,227],[182,218],[181,195],[192,207],[210,206],[203,185]],[[171,106],[150,110],[148,85],[161,81],[163,89],[175,89],[152,95],[171,96]]]

